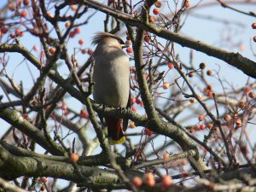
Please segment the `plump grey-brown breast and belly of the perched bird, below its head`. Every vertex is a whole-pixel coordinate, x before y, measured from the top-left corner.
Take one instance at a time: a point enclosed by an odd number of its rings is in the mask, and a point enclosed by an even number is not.
[[[94,99],[108,107],[125,108],[130,93],[130,66],[125,53],[96,55]]]

